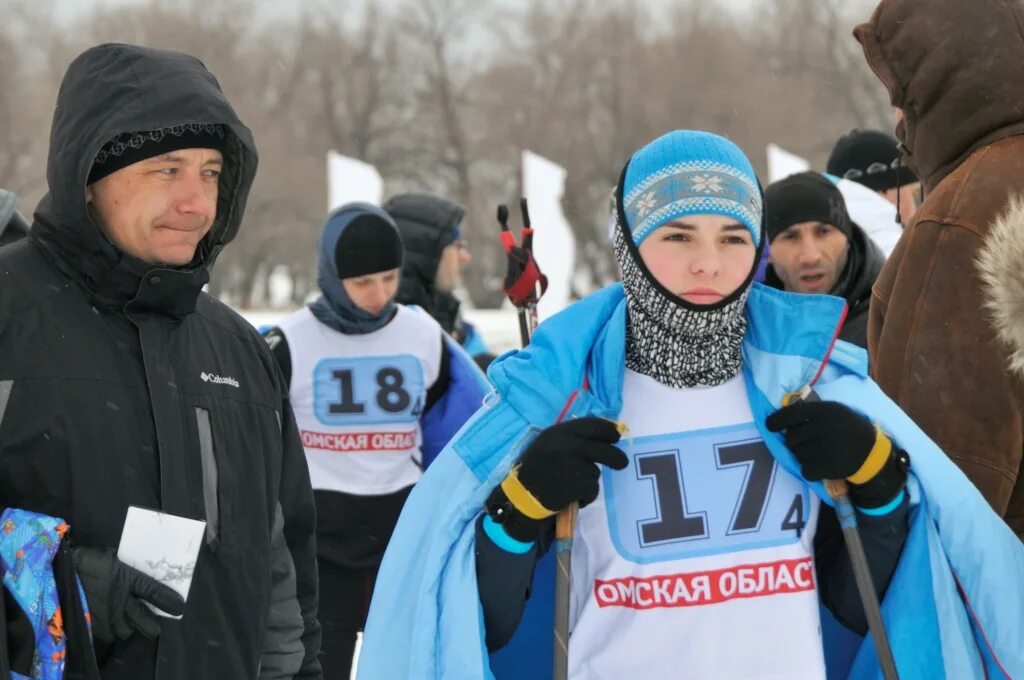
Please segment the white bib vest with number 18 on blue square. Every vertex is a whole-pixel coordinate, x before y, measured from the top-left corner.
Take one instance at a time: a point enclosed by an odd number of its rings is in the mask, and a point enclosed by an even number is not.
[[[313,488],[379,496],[419,481],[420,416],[440,370],[437,322],[398,305],[384,328],[346,335],[303,307],[280,328]]]

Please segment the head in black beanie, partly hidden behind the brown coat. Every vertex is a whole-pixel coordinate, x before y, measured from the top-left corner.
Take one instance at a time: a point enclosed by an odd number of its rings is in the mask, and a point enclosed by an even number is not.
[[[840,137],[825,171],[863,184],[896,206],[899,221],[909,224],[921,205],[921,182],[902,160],[896,137],[878,130],[852,130]]]

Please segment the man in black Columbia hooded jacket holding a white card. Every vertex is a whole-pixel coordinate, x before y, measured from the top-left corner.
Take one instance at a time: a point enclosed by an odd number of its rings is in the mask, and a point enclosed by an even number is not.
[[[256,165],[198,59],[93,47],[61,83],[31,233],[0,251],[0,509],[71,525],[104,679],[321,677],[288,390],[202,292]],[[206,521],[185,602],[117,559],[129,506]]]

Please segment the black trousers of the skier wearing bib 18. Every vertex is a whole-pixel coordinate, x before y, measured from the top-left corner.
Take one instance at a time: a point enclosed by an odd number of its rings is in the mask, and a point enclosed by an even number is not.
[[[319,621],[324,680],[348,680],[356,633],[367,624],[377,568],[350,568],[319,560]]]

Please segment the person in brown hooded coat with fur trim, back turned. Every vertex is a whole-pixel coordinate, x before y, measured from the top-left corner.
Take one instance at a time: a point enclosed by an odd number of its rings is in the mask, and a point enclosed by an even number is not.
[[[874,284],[873,378],[1024,538],[1022,26],[1020,0],[883,0],[854,35],[927,194]]]

